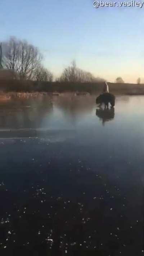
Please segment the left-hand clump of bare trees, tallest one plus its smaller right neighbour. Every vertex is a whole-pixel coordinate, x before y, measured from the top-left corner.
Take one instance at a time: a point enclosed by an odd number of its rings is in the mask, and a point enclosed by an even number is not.
[[[14,71],[19,79],[53,80],[53,74],[42,65],[40,51],[25,40],[11,37],[9,41],[2,43],[2,66]]]

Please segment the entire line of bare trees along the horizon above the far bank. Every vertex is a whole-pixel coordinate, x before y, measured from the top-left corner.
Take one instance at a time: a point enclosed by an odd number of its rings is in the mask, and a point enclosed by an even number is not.
[[[39,49],[27,41],[15,37],[2,43],[2,67],[14,71],[17,79],[49,82],[54,80],[53,74],[42,65],[42,54]],[[106,80],[81,70],[73,61],[63,70],[57,81],[96,83]],[[122,77],[117,77],[115,82],[124,83]],[[140,78],[138,78],[137,83],[140,84]]]

